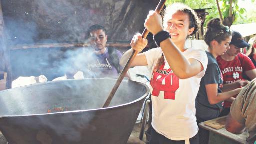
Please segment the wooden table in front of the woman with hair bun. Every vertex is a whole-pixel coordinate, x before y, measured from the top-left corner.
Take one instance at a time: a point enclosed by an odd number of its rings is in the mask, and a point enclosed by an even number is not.
[[[219,118],[216,118],[216,119],[209,120],[208,123],[218,123],[218,121],[219,121]],[[220,129],[218,128],[215,129],[213,128],[214,126],[209,127],[205,125],[204,122],[199,123],[199,126],[203,129],[210,131],[209,144],[219,144],[219,143],[244,144],[246,143],[246,138],[249,136],[249,133],[247,131],[243,132],[242,134],[233,134],[231,132],[228,132],[224,127]]]

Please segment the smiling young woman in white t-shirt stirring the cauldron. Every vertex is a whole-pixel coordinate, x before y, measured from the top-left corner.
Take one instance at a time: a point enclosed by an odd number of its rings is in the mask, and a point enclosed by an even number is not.
[[[163,26],[161,16],[154,11],[149,12],[144,25],[160,47],[138,54],[131,66],[147,65],[152,71],[150,143],[198,143],[194,101],[207,56],[202,50],[185,47],[188,35],[198,30],[198,17],[191,8],[176,3],[165,9]],[[141,34],[131,41],[132,49],[138,52],[146,45],[147,40]],[[121,65],[126,63],[132,49],[124,53]]]

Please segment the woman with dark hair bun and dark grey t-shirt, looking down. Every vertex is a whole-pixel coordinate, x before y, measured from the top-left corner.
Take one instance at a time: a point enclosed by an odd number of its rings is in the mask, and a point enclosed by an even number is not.
[[[234,88],[247,84],[245,81],[240,81],[239,86],[227,84],[223,87],[223,77],[216,57],[223,55],[230,48],[231,31],[227,26],[220,24],[219,18],[210,20],[207,26],[208,30],[205,33],[204,41],[209,46],[208,51],[206,51],[208,66],[200,82],[199,92],[195,100],[197,123],[217,118],[222,109],[222,101],[237,95],[241,90],[241,88]],[[208,137],[209,132],[199,128],[200,143],[208,143]]]

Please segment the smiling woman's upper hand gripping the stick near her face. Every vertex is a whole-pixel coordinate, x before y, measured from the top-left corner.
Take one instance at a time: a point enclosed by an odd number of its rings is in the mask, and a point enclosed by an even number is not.
[[[149,11],[147,18],[145,20],[144,26],[146,29],[151,32],[153,35],[164,30],[162,26],[162,17],[157,14],[155,11]]]

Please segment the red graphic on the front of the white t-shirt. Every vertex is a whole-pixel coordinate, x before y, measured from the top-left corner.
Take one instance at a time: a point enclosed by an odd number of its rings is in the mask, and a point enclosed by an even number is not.
[[[150,85],[153,88],[152,95],[159,96],[160,91],[164,92],[164,99],[175,100],[175,92],[179,88],[179,78],[173,73],[171,68],[163,69],[165,65],[162,64],[160,68],[153,72]],[[165,80],[165,84],[162,84]]]

